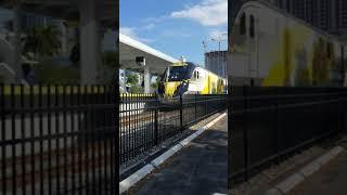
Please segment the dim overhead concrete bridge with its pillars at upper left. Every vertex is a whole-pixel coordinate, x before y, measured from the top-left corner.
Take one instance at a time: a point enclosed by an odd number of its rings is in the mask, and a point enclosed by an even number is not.
[[[115,0],[3,0],[0,8],[13,11],[14,55],[11,68],[16,73],[16,80],[22,79],[20,60],[20,35],[22,13],[35,13],[51,16],[66,22],[76,22],[79,25],[80,37],[80,82],[91,84],[97,82],[98,65],[101,64],[102,29],[116,30]]]

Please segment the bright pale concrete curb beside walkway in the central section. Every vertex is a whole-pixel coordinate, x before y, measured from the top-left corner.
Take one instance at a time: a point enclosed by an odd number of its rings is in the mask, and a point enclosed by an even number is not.
[[[180,143],[152,160],[150,164],[138,170],[137,172],[132,173],[127,179],[119,182],[119,194],[125,193],[128,191],[131,186],[133,186],[136,183],[138,183],[140,180],[142,180],[144,177],[150,174],[154,169],[158,169],[159,166],[165,162],[168,158],[174,156],[177,152],[179,152],[181,148],[188,146],[191,141],[200,136],[204,131],[206,131],[208,128],[214,126],[217,121],[219,121],[221,118],[227,116],[227,113],[223,113],[219,115],[217,118],[215,118],[213,121],[208,122],[207,125],[203,126],[198,131],[194,132],[187,139],[182,140]]]

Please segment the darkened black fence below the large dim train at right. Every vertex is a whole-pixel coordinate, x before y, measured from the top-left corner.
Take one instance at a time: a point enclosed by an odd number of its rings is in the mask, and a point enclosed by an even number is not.
[[[345,129],[347,89],[236,87],[229,91],[229,187]]]

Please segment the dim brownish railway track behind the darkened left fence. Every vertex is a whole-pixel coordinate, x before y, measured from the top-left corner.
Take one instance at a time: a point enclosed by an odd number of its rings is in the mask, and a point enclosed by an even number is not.
[[[0,192],[2,192],[3,185],[7,185],[8,191],[13,191],[11,186],[14,183],[21,191],[31,191],[33,187],[39,190],[38,187],[44,181],[54,180],[51,187],[55,191],[59,187],[57,183],[62,188],[74,188],[74,185],[77,188],[92,182],[91,178],[100,176],[111,178],[112,172],[107,173],[107,171],[112,171],[112,165],[118,162],[112,147],[114,146],[111,140],[98,141],[92,144],[74,145],[74,147],[53,150],[42,154],[1,159],[0,165],[5,168],[5,176],[0,179]],[[94,183],[106,177],[98,178]]]

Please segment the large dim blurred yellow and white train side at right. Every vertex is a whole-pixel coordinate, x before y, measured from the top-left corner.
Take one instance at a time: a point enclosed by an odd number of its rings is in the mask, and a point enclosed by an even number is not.
[[[347,86],[346,46],[264,0],[246,0],[231,22],[229,84]]]

